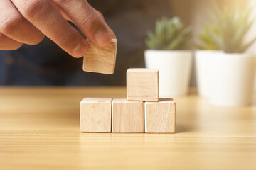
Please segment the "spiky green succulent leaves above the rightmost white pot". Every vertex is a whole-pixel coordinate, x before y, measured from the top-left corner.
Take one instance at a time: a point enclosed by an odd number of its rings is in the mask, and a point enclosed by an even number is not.
[[[206,28],[208,35],[218,45],[219,49],[226,53],[245,52],[256,41],[255,37],[250,42],[243,43],[245,35],[252,27],[252,21],[250,21],[252,8],[245,12],[240,11],[238,6],[232,11],[228,11],[228,8],[221,10],[215,1],[213,1],[213,6],[217,14],[210,13],[210,18],[215,21],[218,31],[214,32],[210,28]],[[199,38],[204,42],[203,48],[208,47],[206,40],[209,39],[202,38],[202,36],[199,36]],[[202,45],[198,47],[202,47]]]

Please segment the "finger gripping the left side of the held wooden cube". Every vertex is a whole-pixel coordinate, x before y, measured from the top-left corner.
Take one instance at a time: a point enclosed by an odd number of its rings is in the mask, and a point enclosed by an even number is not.
[[[73,57],[87,52],[87,42],[48,0],[12,0],[18,11],[38,30]]]

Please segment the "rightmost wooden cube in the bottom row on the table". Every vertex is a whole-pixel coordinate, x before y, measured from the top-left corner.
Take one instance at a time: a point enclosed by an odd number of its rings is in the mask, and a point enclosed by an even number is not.
[[[145,102],[145,132],[175,132],[175,102],[172,98],[163,98],[159,102]]]

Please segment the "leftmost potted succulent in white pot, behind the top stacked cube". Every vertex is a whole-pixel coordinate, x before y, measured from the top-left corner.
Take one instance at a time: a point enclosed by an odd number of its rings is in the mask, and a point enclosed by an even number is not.
[[[187,93],[191,77],[191,28],[178,17],[156,21],[155,32],[146,38],[147,68],[159,69],[159,96],[168,98]]]

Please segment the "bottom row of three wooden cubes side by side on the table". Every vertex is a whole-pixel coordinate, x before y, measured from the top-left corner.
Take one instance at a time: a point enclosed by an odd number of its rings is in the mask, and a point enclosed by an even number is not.
[[[81,132],[175,132],[175,103],[127,101],[125,98],[84,98],[80,103]]]

